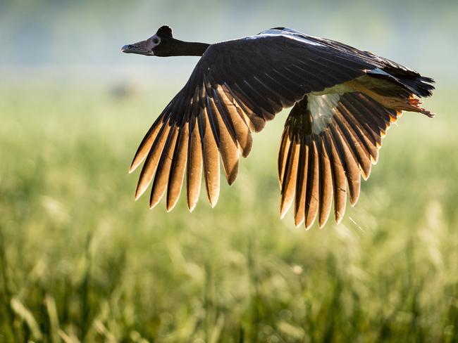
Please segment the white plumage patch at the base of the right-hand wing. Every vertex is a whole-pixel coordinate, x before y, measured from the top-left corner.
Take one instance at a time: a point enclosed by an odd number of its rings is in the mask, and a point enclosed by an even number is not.
[[[323,94],[316,96],[307,95],[307,109],[313,117],[311,131],[314,134],[321,134],[333,119],[334,110],[337,108],[340,93]]]

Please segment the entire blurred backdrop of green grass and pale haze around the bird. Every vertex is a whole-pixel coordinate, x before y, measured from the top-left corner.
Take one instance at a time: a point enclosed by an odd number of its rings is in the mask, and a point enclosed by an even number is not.
[[[458,6],[2,1],[1,342],[457,342]],[[196,58],[125,56],[168,23],[218,41],[287,25],[435,77],[340,225],[278,218],[278,115],[218,205],[133,201],[137,144]]]

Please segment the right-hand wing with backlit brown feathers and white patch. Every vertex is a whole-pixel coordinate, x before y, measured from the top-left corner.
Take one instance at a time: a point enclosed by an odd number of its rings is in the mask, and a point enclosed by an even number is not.
[[[323,226],[334,200],[336,221],[359,198],[361,176],[371,164],[400,111],[384,108],[363,93],[309,95],[287,117],[278,155],[280,213],[295,200],[295,223],[309,228],[318,214]],[[299,150],[299,158],[295,151]]]

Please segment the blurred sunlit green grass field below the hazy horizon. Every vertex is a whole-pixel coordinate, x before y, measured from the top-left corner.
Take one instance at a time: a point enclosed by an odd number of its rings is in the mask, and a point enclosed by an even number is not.
[[[0,92],[1,342],[458,342],[456,90],[405,113],[357,206],[309,231],[278,214],[286,113],[214,209],[166,213],[127,171],[173,89]]]

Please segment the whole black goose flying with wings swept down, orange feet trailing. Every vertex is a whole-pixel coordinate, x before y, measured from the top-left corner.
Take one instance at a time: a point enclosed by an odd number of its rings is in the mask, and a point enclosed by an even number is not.
[[[322,227],[332,205],[339,223],[347,193],[353,206],[361,176],[401,112],[433,114],[419,98],[433,79],[338,41],[286,27],[216,44],[180,41],[162,26],[145,41],[123,46],[145,56],[202,56],[185,86],[147,131],[130,172],[143,161],[135,198],[152,182],[150,207],[166,194],[171,210],[186,176],[187,206],[197,205],[202,174],[213,207],[225,179],[237,177],[252,133],[289,108],[278,154],[280,216],[294,203],[295,224]]]

